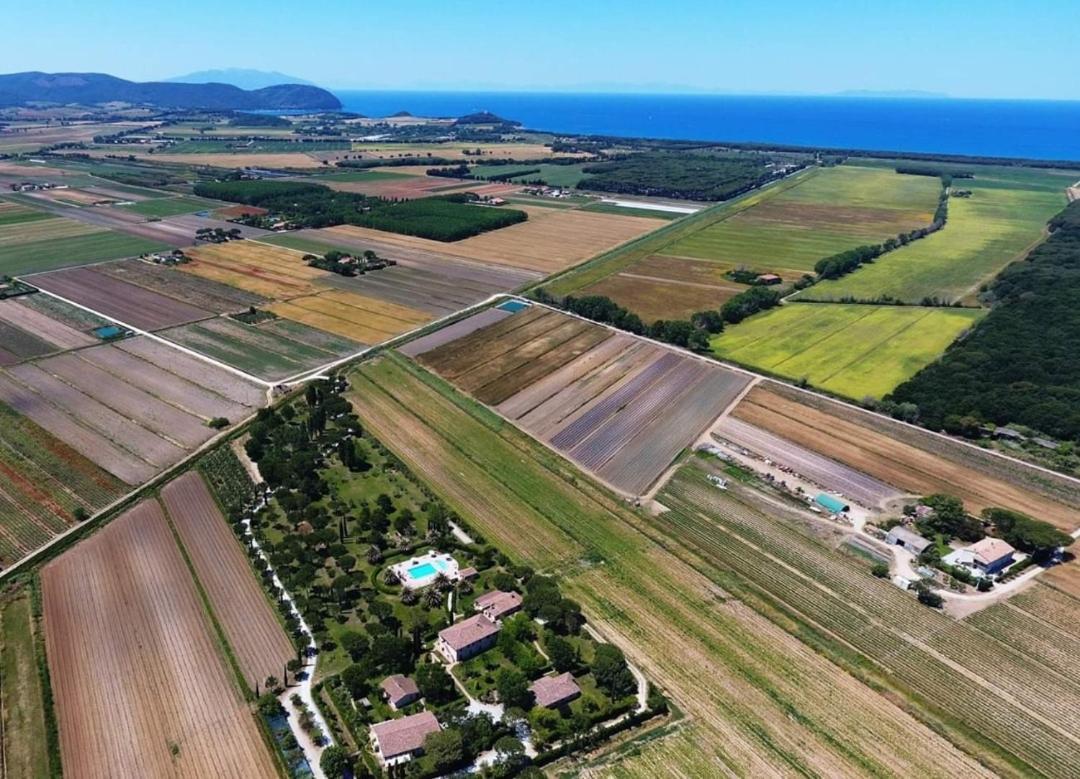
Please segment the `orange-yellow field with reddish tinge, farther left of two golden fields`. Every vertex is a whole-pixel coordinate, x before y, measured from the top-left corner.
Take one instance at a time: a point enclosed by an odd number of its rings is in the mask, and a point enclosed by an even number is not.
[[[326,271],[308,266],[299,252],[255,241],[211,243],[187,250],[179,268],[204,279],[275,299],[310,295]]]

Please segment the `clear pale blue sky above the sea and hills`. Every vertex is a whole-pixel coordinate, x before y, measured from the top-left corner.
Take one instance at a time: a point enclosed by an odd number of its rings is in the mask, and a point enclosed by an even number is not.
[[[1076,0],[5,5],[2,72],[153,80],[245,67],[341,89],[918,90],[1080,99]]]

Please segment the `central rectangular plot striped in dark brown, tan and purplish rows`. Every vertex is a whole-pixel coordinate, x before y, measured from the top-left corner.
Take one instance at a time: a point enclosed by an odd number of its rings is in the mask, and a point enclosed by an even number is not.
[[[609,340],[618,346],[609,346]],[[417,359],[477,400],[498,406],[586,470],[635,495],[660,476],[748,380],[714,363],[616,336],[540,306]]]

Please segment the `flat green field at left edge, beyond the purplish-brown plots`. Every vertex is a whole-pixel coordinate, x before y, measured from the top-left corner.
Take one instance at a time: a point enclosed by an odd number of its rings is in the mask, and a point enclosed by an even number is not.
[[[0,247],[0,274],[19,276],[170,249],[123,232],[100,231]]]

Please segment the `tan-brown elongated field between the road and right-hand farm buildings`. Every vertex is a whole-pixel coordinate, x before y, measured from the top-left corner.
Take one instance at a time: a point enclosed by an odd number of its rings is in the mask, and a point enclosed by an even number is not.
[[[972,512],[1000,506],[1038,516],[1065,530],[1078,526],[1080,497],[1076,487],[1064,480],[1040,474],[1031,482],[1020,481],[1005,472],[1011,467],[1007,460],[977,451],[953,456],[947,442],[939,443],[936,436],[924,431],[913,430],[906,438],[889,434],[876,426],[887,425],[890,431],[902,426],[879,422],[877,417],[850,406],[768,382],[751,390],[733,415],[910,495],[947,493],[963,499]],[[1021,470],[1030,473],[1029,469]]]

